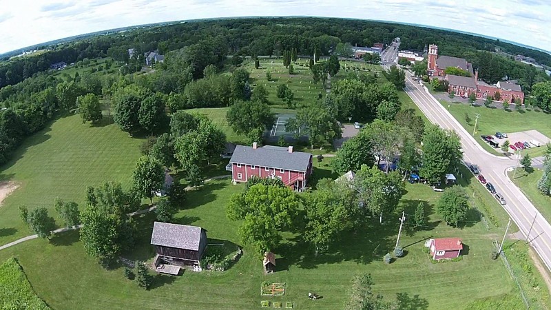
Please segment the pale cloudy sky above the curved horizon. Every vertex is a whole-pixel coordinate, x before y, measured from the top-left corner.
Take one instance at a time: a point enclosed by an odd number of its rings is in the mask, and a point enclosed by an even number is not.
[[[0,0],[0,53],[162,21],[320,16],[418,23],[551,51],[549,0]]]

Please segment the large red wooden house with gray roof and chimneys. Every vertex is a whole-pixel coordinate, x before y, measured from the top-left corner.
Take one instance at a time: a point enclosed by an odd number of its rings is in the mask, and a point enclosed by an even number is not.
[[[226,169],[233,182],[247,182],[251,176],[279,178],[295,191],[306,188],[312,174],[312,154],[293,152],[293,147],[236,145]]]

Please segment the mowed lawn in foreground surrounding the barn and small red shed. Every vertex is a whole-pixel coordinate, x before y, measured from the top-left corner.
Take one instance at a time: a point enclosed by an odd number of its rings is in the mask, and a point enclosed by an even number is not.
[[[239,245],[239,223],[226,218],[225,205],[231,194],[242,189],[243,185],[231,185],[228,180],[207,183],[190,192],[186,209],[177,214],[176,221],[204,227],[209,243]],[[508,294],[516,298],[502,263],[489,255],[492,240],[499,238],[501,229],[488,230],[480,222],[464,229],[448,227],[434,213],[438,193],[424,185],[408,184],[406,190],[398,211],[406,209],[409,216],[419,203],[424,203],[430,216],[423,231],[413,231],[406,225],[400,244],[407,254],[391,265],[385,265],[382,256],[394,247],[397,214],[385,218],[384,225],[373,218],[369,227],[344,236],[342,242],[318,256],[297,236],[286,234],[282,245],[274,250],[277,271],[268,276],[262,275],[260,260],[245,247],[245,254],[229,271],[156,276],[151,291],[125,279],[122,268],[105,270],[85,256],[76,231],[60,234],[51,243],[31,240],[0,251],[0,260],[17,256],[38,296],[52,309],[258,309],[261,300],[294,302],[295,309],[340,309],[351,278],[362,272],[372,274],[374,291],[385,298],[404,293],[400,299],[410,304],[409,309],[439,309],[442,296],[446,296],[449,309],[462,309],[479,298]],[[152,215],[138,219],[140,224],[151,222]],[[128,258],[149,259],[154,255],[148,244],[151,227],[141,225],[141,230],[141,245],[126,254]],[[423,240],[436,236],[463,238],[464,259],[430,262],[422,252]],[[285,282],[285,295],[260,296],[262,281]],[[313,303],[306,298],[309,291],[323,298]]]

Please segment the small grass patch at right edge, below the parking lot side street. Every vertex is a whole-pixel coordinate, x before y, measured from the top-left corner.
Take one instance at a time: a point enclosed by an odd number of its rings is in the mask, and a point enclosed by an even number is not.
[[[509,172],[509,178],[513,180],[514,184],[532,201],[534,207],[541,212],[541,215],[551,221],[551,197],[542,195],[537,189],[537,183],[541,176],[543,176],[543,170],[541,169],[534,169],[529,174],[521,168],[517,169],[517,174]]]

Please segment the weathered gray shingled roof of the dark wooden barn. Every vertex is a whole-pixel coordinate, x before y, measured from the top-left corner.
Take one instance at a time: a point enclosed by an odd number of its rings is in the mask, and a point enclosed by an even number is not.
[[[200,240],[201,227],[163,222],[153,224],[152,245],[198,251]]]

